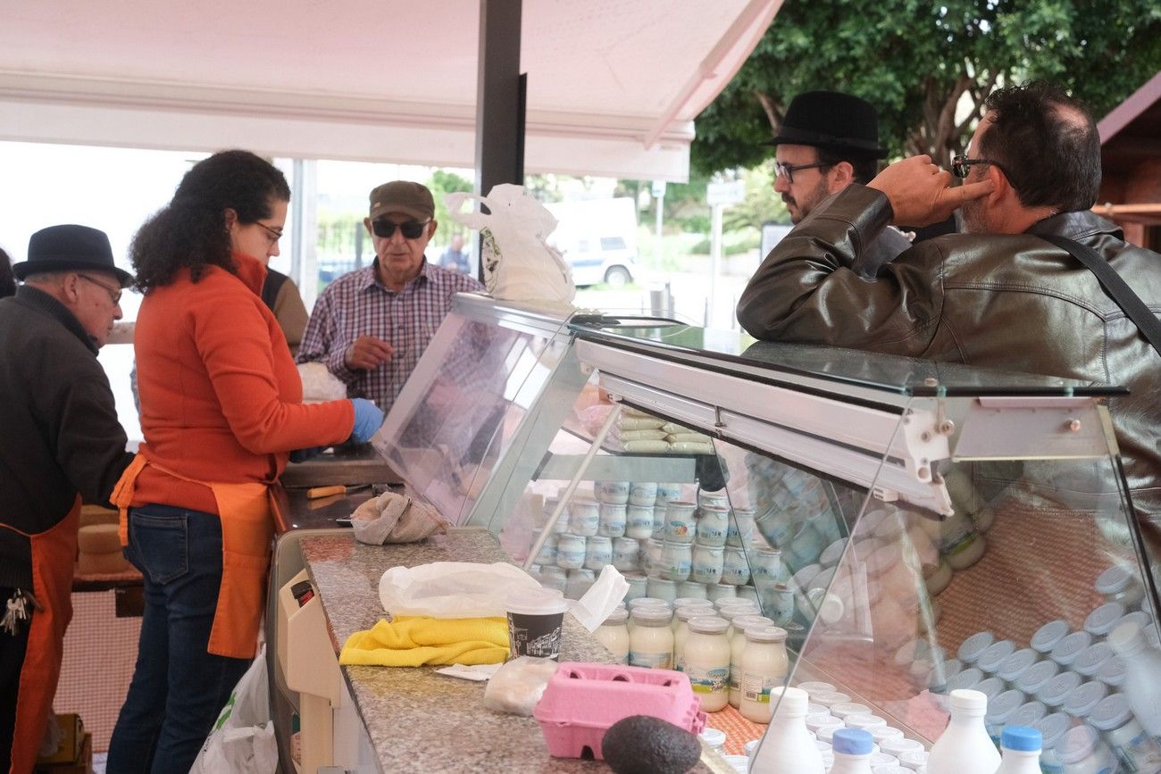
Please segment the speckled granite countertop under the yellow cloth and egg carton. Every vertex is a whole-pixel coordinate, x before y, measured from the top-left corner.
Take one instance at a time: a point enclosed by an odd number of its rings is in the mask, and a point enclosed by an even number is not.
[[[381,617],[378,580],[391,566],[430,562],[507,562],[485,529],[453,529],[419,543],[374,547],[353,535],[304,537],[303,558],[338,649]],[[561,660],[613,663],[607,650],[564,616]],[[383,772],[601,772],[600,761],[550,758],[531,717],[484,708],[484,683],[432,667],[345,666],[344,675]],[[709,771],[704,765],[695,771]]]

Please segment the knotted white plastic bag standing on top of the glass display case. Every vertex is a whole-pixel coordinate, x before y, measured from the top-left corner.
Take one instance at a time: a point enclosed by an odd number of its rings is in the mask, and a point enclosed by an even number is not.
[[[461,212],[469,198],[491,214]],[[556,218],[524,186],[502,183],[488,196],[447,194],[444,202],[453,220],[479,230],[484,285],[493,298],[572,303],[572,270],[547,241]]]

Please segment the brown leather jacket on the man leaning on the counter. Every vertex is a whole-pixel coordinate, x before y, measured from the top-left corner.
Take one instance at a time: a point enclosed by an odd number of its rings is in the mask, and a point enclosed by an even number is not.
[[[1076,259],[1036,234],[1088,245],[1154,313],[1161,255],[1091,212],[1015,236],[915,245],[878,280],[851,269],[890,219],[887,197],[850,186],[819,204],[762,262],[737,305],[758,339],[825,343],[1128,388],[1109,400],[1137,509],[1161,520],[1161,355]]]

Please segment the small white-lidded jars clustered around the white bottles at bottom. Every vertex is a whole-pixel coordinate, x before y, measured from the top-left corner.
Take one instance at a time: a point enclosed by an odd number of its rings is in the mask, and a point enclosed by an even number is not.
[[[925,772],[928,753],[922,743],[909,739],[903,731],[892,726],[884,717],[874,715],[872,708],[852,701],[851,696],[838,690],[834,685],[821,681],[806,681],[796,686],[806,694],[806,728],[829,771],[834,764],[831,739],[838,729],[863,729],[871,735],[874,746],[871,752],[871,771],[873,774],[911,774]],[[793,694],[788,689],[786,694]],[[787,701],[786,697],[783,699]],[[781,711],[781,710],[779,710]],[[772,726],[773,728],[773,726]],[[778,729],[772,731],[777,733]],[[759,739],[745,743],[747,755],[753,755]],[[767,744],[778,744],[771,738]]]

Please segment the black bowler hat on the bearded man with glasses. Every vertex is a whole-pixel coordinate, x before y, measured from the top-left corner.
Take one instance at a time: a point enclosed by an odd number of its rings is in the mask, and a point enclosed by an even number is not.
[[[879,147],[879,114],[866,100],[842,92],[803,92],[786,108],[767,145],[812,145],[841,154],[887,158]]]

